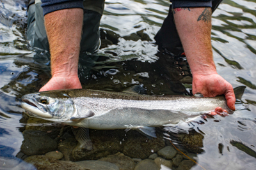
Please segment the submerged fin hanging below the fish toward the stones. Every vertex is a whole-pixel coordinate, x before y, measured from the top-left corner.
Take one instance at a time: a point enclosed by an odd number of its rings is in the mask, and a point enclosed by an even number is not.
[[[89,136],[89,129],[84,127],[79,127],[78,129],[74,129],[72,127],[72,131],[75,135],[76,140],[78,141],[76,148],[74,148],[73,152],[79,151],[81,149],[92,150],[92,141]]]

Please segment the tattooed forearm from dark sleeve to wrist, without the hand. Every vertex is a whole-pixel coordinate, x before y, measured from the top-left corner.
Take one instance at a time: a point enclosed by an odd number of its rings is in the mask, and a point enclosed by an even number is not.
[[[192,74],[216,74],[211,46],[211,8],[175,8],[173,13]]]

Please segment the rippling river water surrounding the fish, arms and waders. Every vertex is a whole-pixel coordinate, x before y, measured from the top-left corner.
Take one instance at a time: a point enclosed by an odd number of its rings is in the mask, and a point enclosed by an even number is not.
[[[29,161],[41,159],[49,162],[46,157],[39,155],[61,150],[64,158],[54,160],[51,164],[75,167],[77,164],[65,160],[101,159],[118,162],[125,159],[126,164],[131,164],[127,169],[134,169],[136,164],[154,169],[157,162],[158,165],[172,166],[172,169],[184,169],[185,166],[191,169],[254,169],[255,1],[225,0],[212,17],[212,47],[218,73],[233,87],[246,85],[242,101],[249,106],[250,111],[239,110],[225,118],[198,118],[189,124],[157,129],[157,139],[147,139],[136,131],[125,133],[122,130],[91,129],[95,150],[83,150],[75,154],[72,153],[72,147],[76,146],[76,140],[70,127],[22,115],[20,97],[38,91],[51,76],[47,60],[49,53],[31,50],[26,41],[26,1],[0,2],[1,164],[2,160],[8,162],[12,159],[17,164],[33,169],[24,162],[20,163],[19,159],[36,155],[30,157]],[[154,36],[168,14],[169,5],[165,0],[106,1],[100,25],[102,46],[99,59],[90,75],[83,64],[79,66],[83,88],[120,91],[140,84],[147,89],[148,94],[190,95],[191,73],[186,59],[158,52],[154,44]],[[34,56],[37,59],[33,59]],[[44,60],[38,60],[43,57]],[[164,146],[171,147],[167,149],[173,155],[163,155],[160,150]],[[117,152],[124,155],[113,155]],[[108,155],[113,155],[113,159],[110,160]],[[15,159],[15,156],[19,159]],[[167,162],[160,161],[159,157]]]

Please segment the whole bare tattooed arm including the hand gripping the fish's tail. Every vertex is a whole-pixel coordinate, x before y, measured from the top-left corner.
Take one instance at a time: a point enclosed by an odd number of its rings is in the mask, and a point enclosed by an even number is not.
[[[235,110],[232,85],[216,71],[211,46],[211,8],[175,8],[175,25],[193,74],[192,92],[214,97],[224,94]]]

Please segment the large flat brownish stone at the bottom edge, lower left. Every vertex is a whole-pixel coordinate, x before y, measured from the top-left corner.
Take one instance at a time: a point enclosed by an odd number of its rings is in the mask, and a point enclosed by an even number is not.
[[[47,158],[44,155],[33,155],[25,159],[26,162],[33,164],[38,170],[83,170],[84,168],[71,161],[63,161]]]

